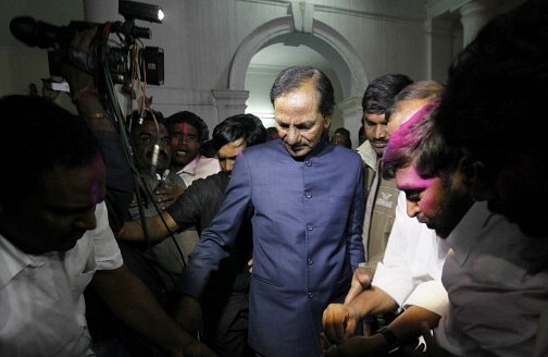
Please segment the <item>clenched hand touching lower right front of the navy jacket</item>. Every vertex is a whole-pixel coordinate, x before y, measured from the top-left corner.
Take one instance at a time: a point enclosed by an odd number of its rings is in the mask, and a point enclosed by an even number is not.
[[[329,304],[322,316],[325,338],[340,344],[353,335],[360,318],[353,309],[342,304]]]

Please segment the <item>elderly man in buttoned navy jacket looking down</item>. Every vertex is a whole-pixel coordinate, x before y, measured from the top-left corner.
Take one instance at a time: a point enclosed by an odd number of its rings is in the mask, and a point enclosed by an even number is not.
[[[177,287],[176,319],[197,329],[208,276],[251,219],[249,343],[258,356],[320,356],[322,312],[344,299],[363,261],[361,159],[328,143],[335,99],[320,70],[282,71],[271,101],[281,139],[236,159],[223,205]]]

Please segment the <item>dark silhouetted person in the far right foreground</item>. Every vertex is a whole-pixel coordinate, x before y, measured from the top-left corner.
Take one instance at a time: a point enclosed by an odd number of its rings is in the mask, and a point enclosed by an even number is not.
[[[530,0],[484,26],[450,67],[436,118],[444,136],[475,162],[474,198],[486,200],[489,210],[527,235],[530,247],[523,256],[531,272],[548,268],[548,140],[539,130],[548,100],[547,19],[548,3]],[[527,128],[524,136],[522,123]],[[535,353],[523,356],[548,356],[548,301],[544,304]],[[531,334],[536,324],[520,319],[509,325]]]

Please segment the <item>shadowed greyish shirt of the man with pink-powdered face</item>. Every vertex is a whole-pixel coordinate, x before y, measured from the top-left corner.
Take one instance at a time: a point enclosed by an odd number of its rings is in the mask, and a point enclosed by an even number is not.
[[[528,249],[524,258],[528,238],[486,202],[475,202],[447,242],[443,282],[450,305],[436,333],[440,346],[466,357],[532,356],[548,303],[548,271],[532,275],[526,268],[546,259],[546,247]]]

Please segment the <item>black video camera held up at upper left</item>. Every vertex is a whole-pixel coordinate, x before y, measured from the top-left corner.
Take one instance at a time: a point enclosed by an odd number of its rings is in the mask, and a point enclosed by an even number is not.
[[[159,47],[137,47],[136,40],[139,38],[151,38],[149,28],[135,25],[135,19],[161,22],[157,5],[149,5],[135,1],[120,0],[119,12],[124,16],[125,22],[113,22],[107,24],[72,21],[67,26],[54,26],[41,21],[35,21],[29,16],[14,17],[10,22],[10,30],[18,40],[30,47],[48,49],[48,62],[50,75],[62,76],[59,63],[70,59],[68,56],[71,39],[79,32],[98,27],[98,38],[96,49],[91,53],[92,58],[86,63],[74,65],[87,72],[99,71],[99,64],[109,69],[112,82],[115,84],[128,84],[132,75],[138,66],[139,78],[150,85],[163,85],[164,83],[164,51]],[[157,16],[157,17],[154,17]],[[123,44],[121,46],[107,46],[107,41],[101,41],[108,26],[109,34],[116,34]],[[104,44],[102,51],[97,47]]]

